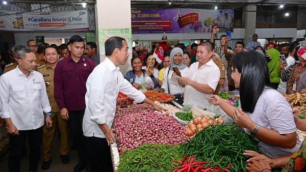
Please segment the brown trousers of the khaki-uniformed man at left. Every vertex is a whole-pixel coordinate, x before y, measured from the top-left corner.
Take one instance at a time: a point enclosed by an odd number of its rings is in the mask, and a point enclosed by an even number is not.
[[[43,126],[42,148],[43,148],[43,160],[44,161],[48,161],[51,158],[52,142],[53,142],[53,137],[54,137],[57,123],[61,131],[60,153],[61,155],[67,155],[69,151],[69,148],[68,148],[68,138],[69,137],[68,137],[67,122],[61,118],[60,112],[52,112],[51,119],[53,123],[50,129],[48,129],[46,125]]]

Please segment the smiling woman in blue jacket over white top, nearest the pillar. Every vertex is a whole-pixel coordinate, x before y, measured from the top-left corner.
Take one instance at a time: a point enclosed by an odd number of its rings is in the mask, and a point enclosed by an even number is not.
[[[152,81],[154,82],[154,88],[157,88],[157,80],[154,75],[150,71],[146,71],[145,69],[141,69],[142,63],[141,58],[136,56],[135,58],[131,59],[131,64],[133,70],[127,71],[124,75],[124,79],[129,81],[134,88],[137,90],[142,90],[141,84],[145,84],[144,76],[147,74],[151,77]]]

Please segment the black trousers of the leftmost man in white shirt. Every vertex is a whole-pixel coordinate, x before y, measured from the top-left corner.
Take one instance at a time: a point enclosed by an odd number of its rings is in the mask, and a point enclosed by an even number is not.
[[[25,137],[29,140],[29,171],[37,171],[42,142],[42,127],[35,130],[19,130],[18,135],[10,135],[9,171],[19,172],[20,161],[23,157]]]

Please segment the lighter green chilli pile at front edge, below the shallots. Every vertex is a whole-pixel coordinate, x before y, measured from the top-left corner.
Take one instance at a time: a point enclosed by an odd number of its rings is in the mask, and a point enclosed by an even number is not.
[[[180,145],[144,144],[139,148],[124,152],[120,157],[120,171],[171,171],[181,160],[183,151]]]

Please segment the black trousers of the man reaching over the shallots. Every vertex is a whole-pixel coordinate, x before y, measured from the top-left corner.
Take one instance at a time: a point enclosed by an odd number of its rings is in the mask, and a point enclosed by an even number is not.
[[[106,138],[86,137],[93,172],[113,172],[111,149]]]

